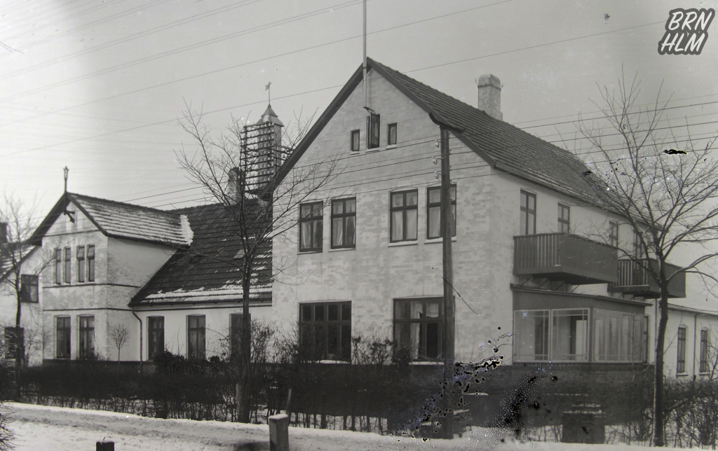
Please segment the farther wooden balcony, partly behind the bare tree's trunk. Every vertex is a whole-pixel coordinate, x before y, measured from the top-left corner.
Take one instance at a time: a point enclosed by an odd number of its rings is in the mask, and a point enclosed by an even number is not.
[[[658,271],[658,261],[651,259],[641,260],[642,265],[634,260],[618,260],[618,280],[608,285],[610,293],[623,293],[626,295],[641,296],[642,298],[658,298],[661,290],[658,284],[652,280],[651,275],[645,266]],[[676,265],[666,265],[666,275],[670,276],[680,268]],[[673,277],[668,283],[668,298],[686,297],[686,273]]]

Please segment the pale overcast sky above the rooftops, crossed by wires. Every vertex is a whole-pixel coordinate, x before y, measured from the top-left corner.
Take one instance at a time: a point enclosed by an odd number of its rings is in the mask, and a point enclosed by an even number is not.
[[[668,11],[715,4],[370,0],[368,55],[470,105],[475,79],[492,73],[504,120],[547,141],[574,138],[565,122],[595,116],[597,86],[615,87],[623,67],[638,72],[640,103],[663,82],[669,105],[684,107],[670,117],[709,133],[718,22],[700,55],[657,49]],[[361,64],[361,34],[360,0],[3,1],[0,190],[37,198],[44,215],[68,166],[73,192],[162,209],[202,202],[175,157],[193,149],[177,123],[185,102],[219,131],[230,115],[256,121],[271,81],[285,124],[300,110],[318,116]]]

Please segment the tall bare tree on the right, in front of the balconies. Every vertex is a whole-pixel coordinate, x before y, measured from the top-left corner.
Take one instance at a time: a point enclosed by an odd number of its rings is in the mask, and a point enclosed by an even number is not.
[[[718,161],[715,136],[691,136],[687,123],[666,115],[668,100],[641,108],[637,77],[604,87],[599,121],[580,120],[579,131],[591,143],[587,201],[623,217],[634,231],[633,243],[620,242],[621,257],[658,286],[658,333],[655,348],[653,445],[664,446],[663,356],[668,321],[669,284],[686,273],[699,275],[709,288],[717,280],[708,266],[718,252]],[[608,124],[608,126],[606,126]],[[679,136],[679,133],[685,133]],[[603,239],[610,238],[604,234]],[[680,267],[671,258],[689,252]]]

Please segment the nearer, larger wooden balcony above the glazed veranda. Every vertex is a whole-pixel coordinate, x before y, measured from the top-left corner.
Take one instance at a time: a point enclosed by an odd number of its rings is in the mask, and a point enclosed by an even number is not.
[[[572,285],[617,282],[617,250],[577,235],[543,233],[513,237],[513,273]]]

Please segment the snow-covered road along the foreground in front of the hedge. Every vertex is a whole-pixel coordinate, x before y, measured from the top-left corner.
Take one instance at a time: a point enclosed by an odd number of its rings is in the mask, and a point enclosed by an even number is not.
[[[8,403],[10,429],[16,450],[95,450],[95,442],[115,442],[116,451],[259,451],[269,450],[266,424],[197,422],[157,419],[34,404]],[[367,432],[329,429],[289,429],[292,451],[641,451],[628,445],[569,445],[566,443],[514,442],[508,432],[480,429],[456,440],[421,440]],[[501,442],[501,439],[504,442]]]

